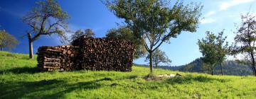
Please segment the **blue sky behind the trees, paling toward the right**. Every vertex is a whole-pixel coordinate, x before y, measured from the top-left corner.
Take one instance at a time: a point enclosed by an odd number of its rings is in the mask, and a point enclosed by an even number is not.
[[[185,3],[191,2],[191,0]],[[196,33],[183,32],[177,38],[171,39],[171,44],[161,45],[172,60],[172,66],[188,64],[194,59],[201,57],[196,42],[205,36],[207,30],[218,33],[225,29],[228,41],[233,42],[233,32],[235,23],[240,23],[242,13],[256,15],[256,0],[192,0],[203,4],[202,18]],[[12,52],[28,53],[28,39],[22,37],[26,35],[28,26],[22,23],[21,18],[35,6],[36,0],[1,0],[0,1],[0,25],[1,29],[6,30],[18,38],[20,44]],[[107,30],[116,28],[117,23],[123,20],[114,16],[107,10],[99,0],[65,0],[58,1],[64,11],[67,11],[70,20],[70,30],[91,28],[96,37],[104,37]],[[55,35],[42,36],[33,42],[34,52],[43,45],[62,45],[59,38]],[[147,64],[144,58],[134,61],[137,64]]]

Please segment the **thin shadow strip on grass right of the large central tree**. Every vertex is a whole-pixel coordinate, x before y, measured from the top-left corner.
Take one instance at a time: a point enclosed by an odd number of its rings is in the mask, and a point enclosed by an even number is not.
[[[209,78],[207,76],[181,76],[181,77],[174,77],[174,78],[166,79],[166,83],[171,83],[171,84],[186,84],[186,83],[192,83],[193,81],[205,82],[205,83],[218,81],[218,82],[224,83],[228,80],[220,79],[220,78]]]

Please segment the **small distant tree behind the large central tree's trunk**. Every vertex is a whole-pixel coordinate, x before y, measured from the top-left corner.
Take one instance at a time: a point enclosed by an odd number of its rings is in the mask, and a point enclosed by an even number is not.
[[[146,57],[146,62],[149,61],[149,55]],[[157,49],[155,52],[153,52],[152,54],[152,61],[153,64],[156,66],[158,66],[159,63],[166,63],[169,64],[171,63],[171,59],[169,59],[169,57],[165,54],[165,52]]]

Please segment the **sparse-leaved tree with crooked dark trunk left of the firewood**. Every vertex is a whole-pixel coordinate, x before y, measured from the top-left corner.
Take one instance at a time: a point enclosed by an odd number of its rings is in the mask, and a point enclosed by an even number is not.
[[[68,13],[63,11],[55,0],[38,1],[36,7],[23,16],[23,23],[31,28],[27,33],[31,59],[33,59],[32,43],[41,35],[57,34],[62,42],[68,40],[65,35],[68,29],[68,18]]]

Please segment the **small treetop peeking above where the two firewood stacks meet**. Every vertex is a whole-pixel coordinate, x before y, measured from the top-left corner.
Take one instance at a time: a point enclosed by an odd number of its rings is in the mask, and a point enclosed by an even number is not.
[[[77,30],[75,33],[71,36],[70,42],[73,40],[78,39],[80,36],[85,36],[85,37],[94,37],[95,33],[93,33],[92,29],[86,29],[85,31],[82,30]]]

